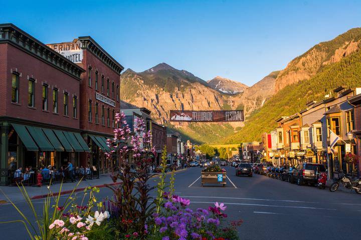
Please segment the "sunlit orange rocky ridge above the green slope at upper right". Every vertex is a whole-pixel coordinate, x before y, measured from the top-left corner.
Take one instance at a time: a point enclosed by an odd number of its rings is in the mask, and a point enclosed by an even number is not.
[[[329,64],[359,50],[361,28],[352,28],[330,41],[320,42],[290,61],[275,82],[275,92],[300,80],[310,79]]]

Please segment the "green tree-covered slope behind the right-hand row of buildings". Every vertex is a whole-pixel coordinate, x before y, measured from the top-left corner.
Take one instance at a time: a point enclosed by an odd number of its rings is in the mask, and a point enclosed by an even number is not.
[[[361,86],[361,51],[325,66],[308,80],[288,85],[266,101],[263,107],[247,117],[245,126],[227,137],[226,143],[260,141],[263,132],[277,127],[276,119],[292,115],[306,107],[311,100],[322,100],[325,94],[340,85]]]

